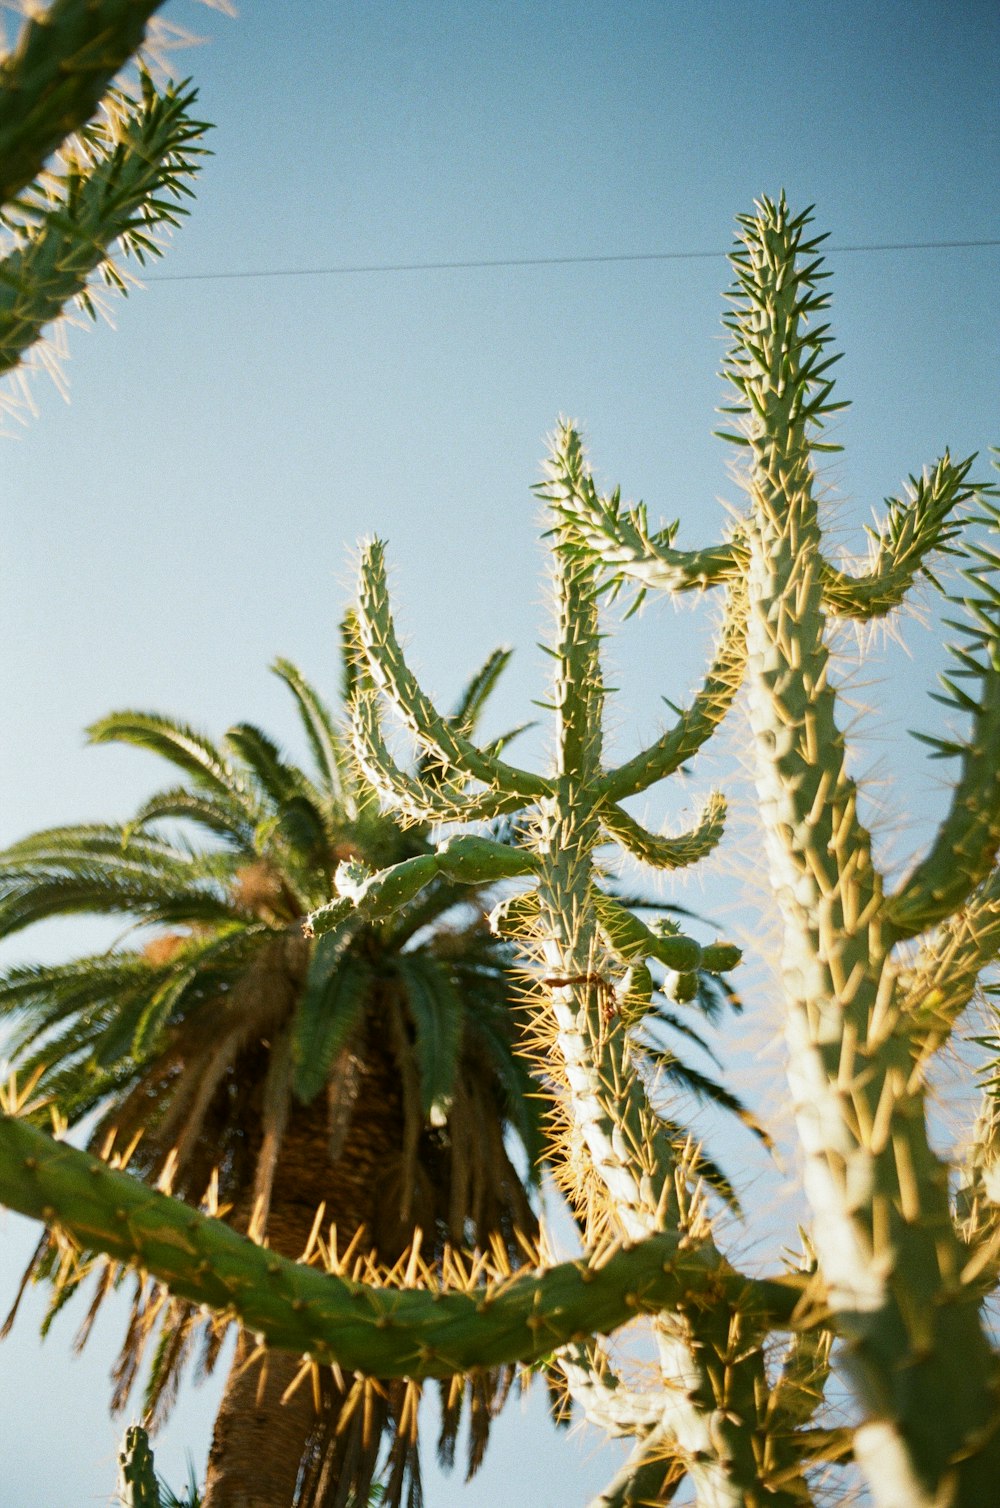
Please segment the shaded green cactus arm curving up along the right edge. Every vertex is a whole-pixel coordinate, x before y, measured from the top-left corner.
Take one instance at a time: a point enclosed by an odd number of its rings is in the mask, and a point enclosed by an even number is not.
[[[971,728],[967,737],[944,745],[943,751],[961,756],[949,811],[926,857],[888,900],[897,938],[914,936],[962,906],[989,876],[1000,847],[1000,555],[979,547],[974,553],[980,564],[965,576],[979,590],[967,602],[976,626],[952,624],[964,629],[971,648],[950,645],[959,670],[941,677],[947,695],[937,697],[970,712]],[[979,683],[977,695],[958,685],[959,676]]]

